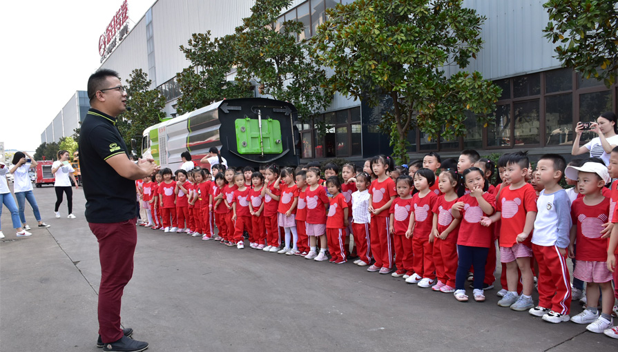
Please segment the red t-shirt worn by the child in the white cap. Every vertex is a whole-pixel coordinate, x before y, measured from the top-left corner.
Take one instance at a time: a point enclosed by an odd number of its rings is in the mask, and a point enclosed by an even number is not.
[[[608,221],[610,199],[605,198],[595,206],[584,204],[577,198],[571,204],[571,221],[577,224],[575,237],[575,260],[586,262],[605,262],[607,260],[608,239],[601,238],[603,224]]]

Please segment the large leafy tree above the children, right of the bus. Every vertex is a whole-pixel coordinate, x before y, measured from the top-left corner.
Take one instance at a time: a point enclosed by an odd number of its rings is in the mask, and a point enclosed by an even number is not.
[[[414,128],[437,139],[465,135],[467,111],[490,122],[500,88],[464,71],[485,17],[461,0],[357,0],[327,14],[312,38],[313,57],[334,70],[327,87],[372,107],[392,101],[379,127],[399,162]],[[447,66],[459,72],[449,77]]]

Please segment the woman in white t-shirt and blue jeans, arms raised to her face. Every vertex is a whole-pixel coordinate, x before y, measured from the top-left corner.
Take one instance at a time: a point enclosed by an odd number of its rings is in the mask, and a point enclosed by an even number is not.
[[[28,160],[32,164],[28,164]],[[32,180],[30,179],[30,175],[28,171],[31,168],[37,167],[37,162],[35,159],[32,159],[28,152],[17,152],[13,155],[12,161],[13,167],[10,169],[10,173],[13,174],[13,191],[15,192],[15,197],[17,198],[17,205],[19,206],[19,219],[21,219],[21,224],[24,230],[30,230],[30,226],[26,224],[26,214],[24,211],[26,210],[26,200],[30,203],[32,207],[32,211],[35,213],[35,219],[39,222],[40,228],[49,227],[48,224],[44,223],[41,220],[41,213],[39,212],[39,206],[37,205],[37,199],[35,199],[35,194],[32,193]]]

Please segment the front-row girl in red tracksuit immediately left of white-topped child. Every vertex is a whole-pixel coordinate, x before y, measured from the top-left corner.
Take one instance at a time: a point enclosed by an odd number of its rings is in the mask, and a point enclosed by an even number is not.
[[[339,177],[331,176],[326,181],[329,193],[333,196],[329,200],[329,211],[326,220],[326,235],[331,263],[343,264],[347,262],[345,253],[345,228],[348,225],[348,206],[345,197],[341,194]]]

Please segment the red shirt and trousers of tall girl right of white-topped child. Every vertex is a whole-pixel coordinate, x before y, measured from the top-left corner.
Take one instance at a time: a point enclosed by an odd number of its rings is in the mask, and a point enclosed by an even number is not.
[[[369,186],[369,194],[371,195],[371,206],[374,209],[381,208],[390,202],[391,197],[397,195],[395,182],[387,177],[380,182],[378,179],[371,182]],[[393,237],[389,233],[389,212],[385,209],[378,215],[371,214],[371,252],[374,253],[376,266],[393,268]]]

